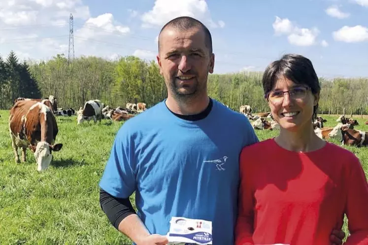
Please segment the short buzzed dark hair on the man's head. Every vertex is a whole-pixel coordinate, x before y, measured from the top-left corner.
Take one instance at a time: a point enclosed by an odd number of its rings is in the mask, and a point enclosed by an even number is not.
[[[160,52],[160,35],[167,27],[173,27],[179,31],[188,30],[194,27],[200,27],[205,35],[205,45],[209,49],[209,53],[210,54],[212,53],[212,36],[208,28],[205,25],[203,25],[201,21],[196,20],[195,18],[189,16],[180,16],[170,20],[165,24],[165,26],[161,29],[158,38],[159,52]]]

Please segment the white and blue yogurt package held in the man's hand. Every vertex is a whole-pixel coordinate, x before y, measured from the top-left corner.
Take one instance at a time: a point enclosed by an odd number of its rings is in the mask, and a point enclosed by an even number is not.
[[[203,219],[171,217],[168,245],[212,244],[212,222]]]

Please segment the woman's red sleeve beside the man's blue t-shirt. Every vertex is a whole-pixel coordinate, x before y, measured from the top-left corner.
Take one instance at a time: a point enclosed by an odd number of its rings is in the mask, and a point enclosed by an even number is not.
[[[254,152],[252,153],[254,154]],[[238,216],[235,225],[235,245],[253,245],[254,199],[251,177],[255,174],[251,170],[254,164],[249,160],[249,150],[243,148],[240,153],[239,173],[240,185],[238,195]]]

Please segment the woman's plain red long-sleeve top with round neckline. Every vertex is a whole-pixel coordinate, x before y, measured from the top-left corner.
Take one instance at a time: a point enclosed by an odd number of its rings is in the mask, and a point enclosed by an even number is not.
[[[368,183],[351,151],[292,152],[269,139],[243,148],[240,178],[235,245],[330,245],[344,213],[344,245],[368,245]]]

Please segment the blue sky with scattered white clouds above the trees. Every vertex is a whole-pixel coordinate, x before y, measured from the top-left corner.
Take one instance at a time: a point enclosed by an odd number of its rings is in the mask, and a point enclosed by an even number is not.
[[[318,76],[368,77],[368,0],[0,0],[0,56],[156,60],[161,27],[178,16],[205,24],[214,73],[263,71],[286,53]]]

